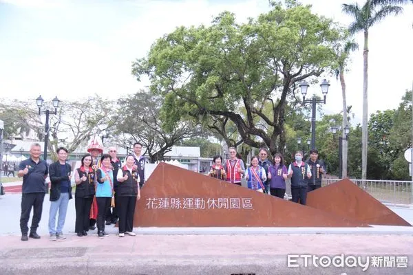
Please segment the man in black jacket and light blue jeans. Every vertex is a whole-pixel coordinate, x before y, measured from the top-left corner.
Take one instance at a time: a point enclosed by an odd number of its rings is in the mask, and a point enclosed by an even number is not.
[[[50,241],[56,239],[66,239],[63,235],[63,226],[65,225],[67,204],[72,199],[72,167],[66,163],[67,149],[60,147],[56,150],[57,162],[50,164],[50,212],[49,212],[49,233]],[[56,214],[59,210],[59,219],[56,228]]]

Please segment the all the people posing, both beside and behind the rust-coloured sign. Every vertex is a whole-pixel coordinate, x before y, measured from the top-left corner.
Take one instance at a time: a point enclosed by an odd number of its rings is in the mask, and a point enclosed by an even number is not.
[[[118,222],[118,236],[135,236],[133,232],[136,201],[140,199],[140,188],[145,183],[145,158],[142,156],[142,144],[136,142],[133,153],[127,155],[124,164],[116,156],[116,147],[109,147],[103,153],[103,145],[98,137],[89,144],[87,152],[81,158],[81,166],[74,170],[74,192],[77,236],[87,236],[89,230],[98,228],[98,236],[107,236],[105,225]],[[23,177],[21,197],[21,240],[40,239],[36,230],[43,212],[45,197],[45,179],[50,177],[50,241],[66,239],[63,234],[67,206],[72,199],[72,167],[67,163],[68,151],[64,147],[56,150],[58,160],[47,165],[40,159],[41,146],[30,146],[30,158],[19,165],[18,176]],[[258,156],[251,157],[251,166],[245,168],[242,159],[237,158],[235,147],[229,148],[229,159],[222,163],[222,157],[213,158],[211,177],[241,186],[245,177],[248,188],[266,192],[284,199],[286,179],[291,179],[293,201],[306,204],[307,192],[321,187],[321,177],[326,173],[324,163],[318,159],[316,149],[310,151],[310,159],[303,161],[303,153],[295,152],[295,162],[288,168],[284,157],[275,153],[268,159],[268,151],[260,148]],[[30,233],[28,221],[33,208]],[[59,215],[58,215],[59,214]],[[57,224],[56,224],[56,216]]]

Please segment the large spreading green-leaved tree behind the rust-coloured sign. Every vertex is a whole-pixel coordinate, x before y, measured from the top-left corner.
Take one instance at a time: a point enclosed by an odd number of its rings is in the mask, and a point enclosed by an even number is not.
[[[149,76],[151,91],[165,95],[167,124],[230,120],[244,144],[264,143],[275,153],[286,144],[285,107],[295,87],[335,65],[342,38],[341,28],[310,6],[275,3],[248,23],[223,12],[209,27],[177,28],[153,43],[133,74]]]

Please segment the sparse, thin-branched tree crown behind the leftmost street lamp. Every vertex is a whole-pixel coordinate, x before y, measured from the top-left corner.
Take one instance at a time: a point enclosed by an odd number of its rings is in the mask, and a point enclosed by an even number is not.
[[[47,106],[52,109],[52,106]],[[98,131],[98,125],[111,124],[114,107],[109,100],[94,95],[76,101],[63,100],[57,109],[56,115],[50,115],[49,140],[47,151],[56,159],[56,148],[65,146],[69,152],[89,140],[93,133]],[[0,113],[6,118],[6,126],[14,135],[21,131],[33,129],[44,141],[45,125],[38,113],[36,104],[28,101],[13,100],[7,104],[0,104]],[[44,116],[44,115],[43,115]]]

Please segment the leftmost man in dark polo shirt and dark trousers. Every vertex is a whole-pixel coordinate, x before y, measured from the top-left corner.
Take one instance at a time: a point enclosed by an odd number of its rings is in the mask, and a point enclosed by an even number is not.
[[[28,221],[33,208],[32,225],[30,226],[30,238],[40,239],[36,233],[43,210],[43,199],[45,198],[45,178],[49,173],[47,162],[40,159],[41,146],[34,143],[30,146],[30,158],[20,162],[19,177],[23,177],[21,190],[21,216],[20,229],[21,241],[28,241]]]

